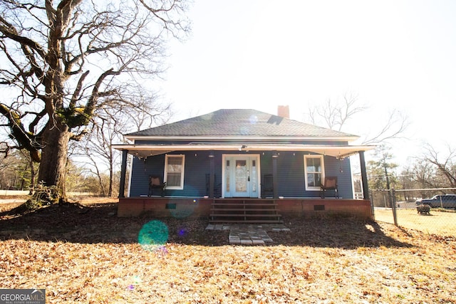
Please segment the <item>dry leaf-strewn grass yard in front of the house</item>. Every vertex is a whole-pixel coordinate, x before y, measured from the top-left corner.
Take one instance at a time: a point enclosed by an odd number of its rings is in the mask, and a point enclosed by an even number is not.
[[[286,219],[271,246],[229,246],[207,221],[151,219],[115,204],[0,218],[0,288],[46,288],[47,303],[456,303],[456,239],[353,219]]]

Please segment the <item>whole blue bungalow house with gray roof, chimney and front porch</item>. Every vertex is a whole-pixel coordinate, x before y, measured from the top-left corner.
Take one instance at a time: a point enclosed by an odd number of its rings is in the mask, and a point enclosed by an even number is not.
[[[283,214],[371,217],[358,137],[247,109],[224,109],[125,137],[118,216],[203,216],[280,221]],[[125,197],[128,154],[133,155]],[[354,199],[350,156],[359,154],[363,199]],[[328,179],[331,177],[331,179]],[[332,187],[324,188],[325,181]],[[326,183],[328,186],[328,183]]]

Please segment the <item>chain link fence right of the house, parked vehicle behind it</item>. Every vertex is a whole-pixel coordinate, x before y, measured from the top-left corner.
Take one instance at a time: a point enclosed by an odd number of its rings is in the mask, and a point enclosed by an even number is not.
[[[456,188],[371,190],[374,219],[426,234],[456,236],[456,195],[446,194],[456,194]],[[421,203],[432,205],[429,212],[418,207]]]

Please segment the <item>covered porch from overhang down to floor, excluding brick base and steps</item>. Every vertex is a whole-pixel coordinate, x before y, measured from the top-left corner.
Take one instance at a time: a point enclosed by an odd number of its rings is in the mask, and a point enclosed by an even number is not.
[[[137,174],[130,177],[128,196],[147,194],[150,177],[173,177],[167,169],[175,169],[167,159],[179,159],[181,170],[174,184],[166,184],[171,197],[267,197],[312,198],[321,196],[320,183],[325,176],[339,176],[339,191],[344,198],[353,198],[349,157],[359,155],[363,199],[368,199],[368,183],[364,151],[367,146],[324,145],[119,145],[123,151],[119,197],[125,197],[128,154],[134,156]],[[306,159],[311,160],[306,164]],[[185,162],[185,166],[184,166]],[[184,170],[185,167],[185,170]],[[313,171],[309,172],[309,168]],[[318,168],[318,169],[314,169]],[[175,182],[177,180],[177,183]],[[177,185],[178,184],[178,185]],[[242,187],[239,185],[242,184]],[[134,187],[132,187],[132,185]],[[170,187],[171,186],[171,187]],[[218,188],[218,190],[217,190]]]

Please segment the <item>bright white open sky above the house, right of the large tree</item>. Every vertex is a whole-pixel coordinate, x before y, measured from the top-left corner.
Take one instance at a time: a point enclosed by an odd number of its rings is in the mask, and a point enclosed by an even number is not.
[[[399,162],[422,142],[452,145],[456,1],[194,0],[192,35],[170,44],[161,83],[173,120],[220,108],[276,114],[358,95],[368,110],[345,132],[366,135],[392,110],[408,116]]]

